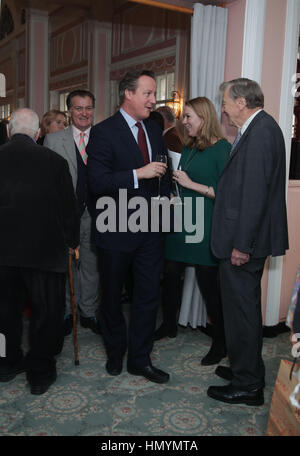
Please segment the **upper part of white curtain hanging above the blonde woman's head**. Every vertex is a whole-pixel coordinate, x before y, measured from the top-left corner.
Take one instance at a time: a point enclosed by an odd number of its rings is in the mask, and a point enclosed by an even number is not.
[[[221,114],[219,86],[224,80],[226,8],[194,5],[191,33],[190,98],[205,96]]]

